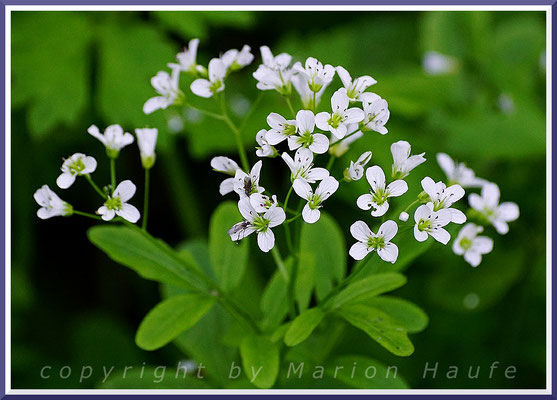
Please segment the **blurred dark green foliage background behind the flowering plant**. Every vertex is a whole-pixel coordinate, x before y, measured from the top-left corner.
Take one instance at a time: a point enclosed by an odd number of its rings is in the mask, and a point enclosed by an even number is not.
[[[150,78],[166,69],[166,63],[173,62],[193,37],[202,39],[201,64],[244,43],[256,54],[251,66],[227,80],[227,100],[238,120],[260,95],[250,76],[259,63],[256,50],[260,45],[269,45],[276,53],[289,52],[296,60],[314,56],[343,65],[353,75],[370,74],[377,79],[372,90],[389,102],[389,134],[366,134],[356,142],[335,163],[337,176],[350,159],[369,149],[374,163],[389,165],[390,144],[404,139],[410,141],[414,153],[426,151],[430,160],[419,167],[419,175],[442,179],[433,156],[445,151],[466,161],[479,176],[497,182],[502,199],[520,206],[521,218],[508,235],[496,237],[495,250],[476,269],[437,243],[428,243],[431,251],[417,262],[401,259],[391,268],[372,265],[371,272],[406,270],[408,284],[396,296],[418,304],[429,316],[425,332],[412,336],[416,348],[412,357],[395,358],[349,324],[325,319],[310,339],[287,350],[287,360],[320,365],[326,360],[315,359],[315,349],[333,346],[332,357],[338,357],[342,365],[360,360],[377,365],[378,371],[399,366],[398,387],[544,387],[546,132],[545,69],[540,59],[545,48],[545,15],[345,12],[342,18],[338,16],[332,12],[245,11],[12,13],[11,196],[12,238],[17,238],[12,240],[12,387],[131,387],[129,380],[103,382],[102,365],[115,366],[117,371],[134,365],[130,376],[137,377],[142,365],[153,375],[157,365],[196,358],[204,358],[206,365],[220,372],[207,381],[192,378],[188,387],[252,387],[245,377],[232,382],[218,379],[228,372],[231,360],[237,360],[229,345],[243,340],[242,330],[222,309],[211,309],[173,346],[142,351],[133,344],[134,332],[160,300],[157,284],[110,262],[91,246],[85,237],[91,225],[88,221],[39,221],[35,217],[32,194],[44,183],[53,184],[62,157],[87,149],[102,159],[104,150],[86,133],[90,124],[119,123],[127,130],[153,126],[161,131],[162,153],[152,179],[153,235],[174,245],[206,236],[209,215],[221,200],[220,180],[208,168],[209,158],[234,154],[233,136],[219,121],[191,110],[171,109],[149,116],[141,111],[145,100],[154,95]],[[308,25],[308,20],[320,23]],[[288,26],[277,21],[288,21]],[[426,51],[452,56],[455,70],[426,74],[421,65]],[[188,82],[181,85],[188,93]],[[212,107],[207,100],[189,97],[194,105]],[[506,106],[501,106],[502,99]],[[327,101],[321,104],[322,109],[328,107]],[[286,114],[287,107],[276,93],[263,93],[243,130],[248,149],[255,146],[255,133],[266,127],[265,117],[271,111]],[[173,125],[176,117],[185,121],[183,127]],[[122,153],[119,174],[141,179],[137,154],[131,153]],[[282,160],[269,160],[262,173],[268,189],[284,191],[278,179],[271,179],[284,173]],[[97,174],[108,177],[106,166],[99,165]],[[420,190],[417,179],[409,179],[409,186],[411,192]],[[335,218],[345,237],[355,214],[367,215],[353,207],[365,187],[365,182],[356,182],[329,200],[330,211],[341,211]],[[79,198],[80,204],[93,209],[95,202],[81,193],[89,188],[79,183],[76,188],[77,193],[65,192],[63,198],[70,202]],[[354,212],[342,212],[349,206]],[[403,205],[395,202],[392,206]],[[197,218],[195,225],[185,223],[192,218]],[[278,241],[282,240],[279,236]],[[188,240],[185,249],[198,262],[207,258],[199,256],[208,251],[203,240]],[[274,270],[269,258],[250,258],[241,282],[230,282],[232,294],[243,307],[258,313],[259,304],[251,299],[259,298],[264,290],[280,294],[284,289],[280,275],[263,287]],[[229,271],[218,275],[230,278]],[[309,271],[303,278],[312,281],[316,277],[322,281],[315,284],[326,291],[336,272],[320,276]],[[167,287],[163,292],[172,290],[179,289]],[[261,306],[283,312],[281,304],[266,301],[269,298],[264,296]],[[296,298],[308,305],[307,293],[298,291]],[[222,332],[218,342],[208,335],[215,331]],[[337,341],[339,337],[342,340]],[[439,361],[442,376],[423,379],[425,363],[432,361]],[[515,365],[516,379],[504,379],[502,373],[493,379],[485,373],[476,380],[465,378],[468,366],[485,365],[486,370],[493,361],[499,361],[501,369]],[[444,369],[455,364],[461,369],[459,378],[444,377]],[[39,375],[44,365],[53,367],[50,379]],[[77,369],[62,379],[58,372],[64,365],[91,365],[95,372],[81,382]],[[333,379],[327,369],[319,385],[346,387],[342,382],[350,382],[345,378]],[[282,370],[278,382],[279,387],[315,384],[311,379],[286,379]],[[176,383],[157,385],[152,387],[170,388]]]

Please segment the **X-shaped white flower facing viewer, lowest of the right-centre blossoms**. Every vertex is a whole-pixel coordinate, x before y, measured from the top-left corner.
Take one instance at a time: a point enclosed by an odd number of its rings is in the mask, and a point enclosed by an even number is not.
[[[392,220],[383,222],[377,234],[373,233],[365,222],[356,221],[350,227],[350,233],[357,242],[350,247],[349,254],[355,260],[363,260],[373,250],[377,250],[383,261],[394,264],[398,258],[398,247],[391,243],[391,239],[397,232],[398,226]]]

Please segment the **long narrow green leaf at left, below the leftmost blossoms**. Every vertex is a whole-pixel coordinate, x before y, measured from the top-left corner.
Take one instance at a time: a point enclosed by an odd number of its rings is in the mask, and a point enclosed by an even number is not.
[[[145,279],[207,291],[195,264],[146,232],[125,226],[94,226],[87,236],[112,260]]]

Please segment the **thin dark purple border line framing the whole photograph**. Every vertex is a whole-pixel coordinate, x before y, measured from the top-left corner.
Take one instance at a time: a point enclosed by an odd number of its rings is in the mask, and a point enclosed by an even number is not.
[[[85,0],[85,1],[78,1],[78,0],[58,0],[58,1],[52,1],[48,4],[45,3],[45,1],[40,1],[40,0],[23,0],[23,1],[17,1],[17,0],[8,0],[8,1],[0,1],[0,5],[1,5],[1,11],[0,11],[0,18],[1,18],[1,27],[2,27],[2,33],[5,33],[5,13],[6,13],[6,6],[7,5],[83,5],[83,6],[91,6],[91,5],[95,5],[95,6],[105,6],[105,5],[112,5],[112,6],[118,6],[118,5],[145,5],[145,6],[163,6],[163,5],[228,5],[228,6],[232,6],[232,5],[385,5],[385,6],[405,6],[405,5],[412,5],[412,6],[429,6],[429,5],[459,5],[459,6],[475,6],[475,5],[487,5],[487,6],[494,6],[494,5],[509,5],[509,6],[514,6],[514,5],[522,5],[522,6],[535,6],[535,5],[551,5],[551,10],[552,10],[552,26],[555,27],[557,26],[557,15],[555,13],[555,11],[557,10],[557,8],[555,7],[555,3],[557,2],[557,0],[533,0],[530,2],[525,2],[524,0],[508,0],[508,1],[503,1],[503,0],[490,0],[490,1],[480,1],[480,0],[471,0],[471,1],[441,1],[441,0],[430,0],[430,1],[422,1],[422,2],[416,2],[416,1],[410,1],[410,0],[399,0],[396,2],[396,4],[393,3],[388,3],[386,1],[373,1],[373,0],[349,0],[347,2],[344,2],[343,4],[339,4],[338,0],[304,0],[303,2],[297,2],[295,0],[284,0],[281,2],[278,2],[277,0],[272,0],[271,2],[266,2],[266,4],[261,4],[261,1],[258,0],[241,0],[241,1],[234,1],[233,3],[230,1],[226,1],[226,0],[212,0],[210,4],[208,3],[204,3],[202,1],[184,1],[184,0],[163,0],[157,4],[153,3],[153,0],[118,0],[117,2],[111,2],[108,0],[100,0],[100,1],[91,1],[91,0]],[[554,32],[552,32],[552,54],[555,54],[556,52],[556,44],[555,44],[555,35]],[[1,69],[2,69],[2,76],[3,78],[5,78],[5,74],[6,74],[6,70],[5,70],[5,36],[3,37],[2,43],[1,43],[1,50],[2,50],[2,63],[1,63]],[[552,76],[555,76],[554,73],[556,71],[556,67],[553,65],[552,63]],[[1,82],[1,87],[2,87],[2,93],[4,94],[4,96],[2,96],[1,100],[0,100],[0,105],[2,107],[2,111],[1,111],[1,122],[2,122],[2,126],[5,127],[5,123],[6,123],[6,110],[5,110],[5,93],[6,93],[6,85],[5,85],[5,80],[2,79]],[[554,90],[554,85],[552,85],[551,87],[551,91],[552,94],[555,93]],[[556,115],[556,111],[557,111],[557,105],[556,104],[552,104],[552,116]],[[548,134],[551,134],[552,132],[548,132]],[[5,272],[6,272],[6,263],[5,263],[5,254],[6,254],[6,237],[5,237],[5,228],[6,228],[6,218],[5,218],[5,207],[6,207],[6,202],[5,202],[5,193],[6,193],[6,180],[5,180],[5,173],[6,173],[6,159],[5,159],[5,138],[8,132],[6,132],[4,130],[4,137],[2,140],[2,143],[0,145],[0,149],[2,151],[2,165],[1,165],[1,174],[0,174],[0,183],[2,188],[0,189],[0,206],[2,207],[2,209],[4,210],[4,212],[1,214],[0,216],[0,221],[1,221],[1,225],[4,228],[2,230],[2,232],[0,233],[0,237],[2,237],[3,239],[3,243],[2,243],[2,247],[1,247],[1,251],[2,251],[2,256],[3,256],[3,260],[2,263],[4,265],[4,273],[1,274],[0,277],[0,284],[2,284],[2,287],[5,287]],[[557,144],[552,143],[552,152],[557,151]],[[555,169],[553,164],[551,165],[551,171],[552,171],[552,185],[555,183]],[[557,194],[557,190],[553,187],[552,188],[552,198]],[[553,205],[553,204],[552,204]],[[557,215],[553,215],[552,216],[552,220],[551,220],[551,228],[553,231],[553,227],[557,224]],[[553,248],[557,248],[557,238],[552,238],[552,246]],[[552,285],[553,287],[555,286],[555,283],[557,283],[557,274],[554,273],[553,277],[552,277]],[[552,317],[553,317],[553,321],[555,321],[557,319],[557,311],[555,308],[555,302],[554,299],[552,298]],[[260,398],[264,398],[267,397],[269,395],[264,395],[264,394],[253,394],[253,395],[245,395],[245,394],[211,394],[211,395],[197,395],[197,394],[173,394],[173,395],[160,395],[160,394],[142,394],[142,395],[136,395],[136,394],[126,394],[126,395],[118,395],[118,394],[109,394],[109,395],[103,395],[103,394],[92,394],[92,395],[77,395],[77,394],[68,394],[68,395],[59,395],[59,394],[47,394],[47,395],[6,395],[6,382],[5,382],[5,359],[6,359],[6,353],[5,353],[5,328],[6,328],[6,314],[5,314],[5,293],[4,296],[2,296],[1,300],[0,300],[0,308],[1,308],[1,316],[2,316],[2,332],[0,334],[0,338],[2,339],[2,344],[0,345],[0,356],[1,356],[1,361],[2,363],[0,364],[0,399],[19,399],[19,400],[30,400],[30,399],[38,399],[38,398],[45,398],[45,399],[52,399],[52,400],[58,400],[60,398],[63,399],[74,399],[74,398],[78,398],[78,397],[82,397],[82,396],[86,396],[87,399],[119,399],[119,400],[132,400],[132,399],[137,399],[138,397],[140,397],[141,399],[155,399],[155,398],[161,398],[161,397],[182,397],[182,398],[191,398],[191,399],[204,399],[204,400],[211,400],[211,399],[220,399],[223,397],[232,397],[235,399],[243,399],[246,397],[249,397],[250,399],[260,399]],[[552,336],[555,336],[555,333],[552,331]],[[553,339],[553,338],[552,338]],[[554,367],[553,364],[553,360],[554,360],[554,355],[555,355],[555,349],[553,348],[552,354],[551,354],[551,363],[552,363],[552,367]],[[553,374],[552,378],[552,385],[553,387],[557,387],[557,374]],[[293,396],[294,398],[303,398],[303,399],[312,399],[312,400],[317,400],[317,399],[321,399],[324,396],[326,398],[345,398],[346,394],[330,394],[330,395],[325,395],[325,394],[308,394],[308,395],[303,395],[303,394],[296,394],[296,395],[286,395],[286,394],[273,394],[272,395],[274,398],[283,398],[286,396]],[[408,394],[408,395],[370,395],[370,394],[356,394],[354,396],[358,396],[359,398],[362,397],[373,397],[373,398],[384,398],[384,399],[389,399],[389,400],[403,400],[403,399],[419,399],[419,400],[429,400],[432,397],[434,399],[445,399],[453,396],[458,396],[458,398],[460,399],[466,399],[466,398],[480,398],[480,399],[496,399],[496,400],[503,400],[503,399],[508,399],[513,398],[513,399],[557,399],[557,396],[555,395],[508,395],[508,394],[494,394],[494,395],[472,395],[472,394],[454,394],[454,395],[449,395],[449,394],[443,394],[443,395],[432,395],[432,394],[427,394],[427,395],[422,395],[422,394],[417,394],[417,395],[412,395],[412,394]]]

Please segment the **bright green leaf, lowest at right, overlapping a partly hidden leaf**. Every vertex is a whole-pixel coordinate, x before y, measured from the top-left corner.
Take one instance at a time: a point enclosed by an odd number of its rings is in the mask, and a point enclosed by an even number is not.
[[[391,353],[409,356],[414,352],[406,330],[379,309],[365,304],[352,304],[339,309],[337,313]]]

